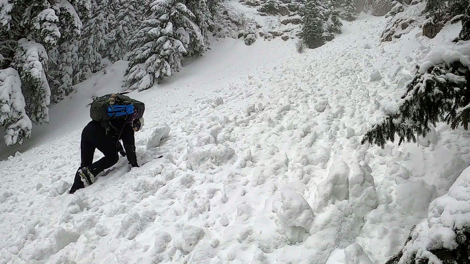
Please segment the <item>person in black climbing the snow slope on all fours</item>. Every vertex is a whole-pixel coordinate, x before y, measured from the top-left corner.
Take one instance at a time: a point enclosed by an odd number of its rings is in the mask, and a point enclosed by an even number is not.
[[[113,95],[116,96],[115,94],[110,94],[103,97],[108,98],[107,100],[109,101],[109,98],[112,98],[111,96]],[[122,96],[120,94],[118,95]],[[127,96],[125,97],[128,98]],[[94,99],[94,101],[100,101],[100,98]],[[127,108],[124,111],[125,115],[122,115],[121,118],[115,114],[116,111],[111,111],[113,108],[117,109],[119,105],[115,105],[114,103],[111,103],[111,106],[108,105],[106,112],[109,116],[111,116],[110,112],[112,113],[112,119],[97,117],[96,114],[92,113],[93,111],[96,111],[92,106],[92,109],[90,109],[90,116],[94,120],[90,121],[85,126],[81,134],[81,164],[75,174],[73,185],[69,191],[70,194],[75,193],[78,189],[93,184],[95,177],[100,172],[118,163],[118,152],[127,157],[127,160],[132,167],[139,167],[135,153],[134,132],[139,131],[143,126],[142,113],[144,107],[143,103],[139,101],[133,100],[133,102],[137,102],[140,110],[134,106],[130,108],[131,110]],[[122,110],[119,111],[123,112]],[[102,119],[108,120],[103,121]],[[119,140],[122,140],[125,152],[123,151],[123,147]],[[104,157],[93,162],[94,152],[96,149],[101,151]]]

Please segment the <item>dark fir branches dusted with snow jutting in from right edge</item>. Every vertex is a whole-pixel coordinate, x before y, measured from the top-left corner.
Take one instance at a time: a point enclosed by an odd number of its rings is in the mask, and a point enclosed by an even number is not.
[[[459,37],[469,40],[470,7],[467,7],[462,19]],[[469,44],[466,44],[469,45]],[[456,58],[426,69],[416,66],[415,78],[407,85],[407,92],[396,113],[386,116],[375,124],[361,141],[384,148],[387,140],[394,142],[395,133],[399,136],[399,145],[413,141],[416,136],[426,136],[430,132],[429,124],[438,122],[451,124],[452,129],[462,125],[468,130],[470,121],[470,81],[468,66]]]

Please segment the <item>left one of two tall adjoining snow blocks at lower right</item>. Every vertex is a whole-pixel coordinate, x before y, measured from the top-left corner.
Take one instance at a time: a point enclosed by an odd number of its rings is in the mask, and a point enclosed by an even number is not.
[[[316,210],[321,209],[335,201],[342,201],[349,197],[349,166],[344,162],[333,163],[328,177],[324,179],[315,192]]]

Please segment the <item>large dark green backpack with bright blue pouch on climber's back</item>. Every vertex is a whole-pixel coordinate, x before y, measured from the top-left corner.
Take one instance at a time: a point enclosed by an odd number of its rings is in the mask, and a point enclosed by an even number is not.
[[[128,92],[127,92],[128,93]],[[141,101],[130,98],[125,93],[110,93],[101,97],[92,97],[90,106],[91,119],[99,122],[106,122],[116,118],[133,116],[137,110],[137,118],[144,115],[145,104]]]

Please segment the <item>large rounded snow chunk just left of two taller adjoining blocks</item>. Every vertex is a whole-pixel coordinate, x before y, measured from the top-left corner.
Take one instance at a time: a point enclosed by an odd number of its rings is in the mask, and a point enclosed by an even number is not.
[[[281,208],[277,217],[288,226],[300,226],[309,230],[315,213],[302,194],[291,190],[282,190]]]

